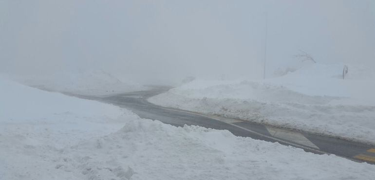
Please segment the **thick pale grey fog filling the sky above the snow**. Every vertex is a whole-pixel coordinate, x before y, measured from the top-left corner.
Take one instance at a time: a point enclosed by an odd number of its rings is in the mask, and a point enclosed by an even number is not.
[[[266,32],[266,76],[299,61],[299,50],[319,63],[373,66],[375,1],[2,0],[0,72],[257,79]]]

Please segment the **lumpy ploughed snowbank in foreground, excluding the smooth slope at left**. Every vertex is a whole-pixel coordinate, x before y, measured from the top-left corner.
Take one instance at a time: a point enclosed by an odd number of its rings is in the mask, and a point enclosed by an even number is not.
[[[74,157],[56,159],[61,172],[78,171],[87,179],[366,179],[375,169],[226,130],[151,120],[129,121],[115,133],[64,149],[60,156]]]

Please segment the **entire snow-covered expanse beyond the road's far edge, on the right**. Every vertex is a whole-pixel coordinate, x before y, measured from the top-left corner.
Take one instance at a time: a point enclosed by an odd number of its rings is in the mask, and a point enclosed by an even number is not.
[[[149,101],[375,144],[375,72],[313,64],[266,80],[196,80]]]

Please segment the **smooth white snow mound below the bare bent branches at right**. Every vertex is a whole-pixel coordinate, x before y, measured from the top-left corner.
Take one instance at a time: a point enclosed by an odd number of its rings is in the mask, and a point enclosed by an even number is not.
[[[352,100],[369,100],[375,106],[375,95],[363,90],[375,88],[375,71],[363,66],[349,65],[349,73],[342,79],[344,65],[314,64],[279,78],[266,79],[265,82],[285,86],[290,90],[312,96],[348,97]],[[365,98],[363,98],[366,96]]]

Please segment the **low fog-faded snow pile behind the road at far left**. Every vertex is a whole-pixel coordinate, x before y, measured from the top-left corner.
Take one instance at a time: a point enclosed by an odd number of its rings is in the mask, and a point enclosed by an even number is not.
[[[103,70],[71,71],[16,80],[40,89],[83,95],[106,95],[146,89],[129,79],[120,80]]]

